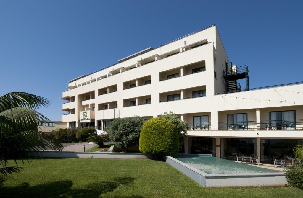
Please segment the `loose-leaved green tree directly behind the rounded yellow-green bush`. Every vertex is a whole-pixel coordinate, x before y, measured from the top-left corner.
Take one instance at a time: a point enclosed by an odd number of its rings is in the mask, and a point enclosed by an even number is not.
[[[179,119],[178,116],[174,114],[174,112],[164,112],[164,114],[161,114],[159,117],[167,119],[171,124],[175,126],[175,129],[179,134],[180,145],[182,146],[187,137],[187,130],[189,129],[187,122],[184,120],[181,121],[181,119]]]

